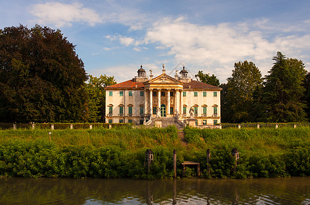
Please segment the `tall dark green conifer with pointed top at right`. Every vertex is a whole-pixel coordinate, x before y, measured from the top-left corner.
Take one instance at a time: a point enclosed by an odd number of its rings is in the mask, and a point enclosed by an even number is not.
[[[274,66],[265,76],[263,88],[264,120],[269,122],[300,122],[306,120],[302,86],[307,71],[301,60],[277,52]]]

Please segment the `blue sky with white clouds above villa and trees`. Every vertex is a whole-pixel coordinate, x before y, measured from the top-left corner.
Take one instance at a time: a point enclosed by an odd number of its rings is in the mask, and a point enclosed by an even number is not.
[[[19,24],[60,29],[88,74],[117,82],[165,64],[226,83],[236,61],[267,74],[276,51],[310,68],[309,0],[0,0],[0,28]]]

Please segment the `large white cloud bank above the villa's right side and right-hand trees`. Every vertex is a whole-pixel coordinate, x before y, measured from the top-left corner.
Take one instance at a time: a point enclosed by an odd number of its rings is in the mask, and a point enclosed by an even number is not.
[[[258,24],[261,26],[265,21]],[[267,40],[263,30],[254,29],[248,23],[195,25],[184,18],[164,18],[147,30],[145,43],[158,44],[156,49],[167,48],[166,55],[174,55],[176,62],[192,66],[192,72],[202,69],[215,73],[224,82],[236,61],[253,61],[266,74],[276,51],[288,57],[305,54],[302,51],[309,48],[310,36],[276,36]]]

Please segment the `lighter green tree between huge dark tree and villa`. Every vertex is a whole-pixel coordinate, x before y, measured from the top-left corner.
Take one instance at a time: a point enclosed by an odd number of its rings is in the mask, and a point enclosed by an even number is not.
[[[104,122],[106,113],[106,92],[104,87],[116,83],[114,77],[108,77],[105,74],[100,75],[98,78],[89,75],[88,83],[84,85],[88,95],[88,115],[86,116],[88,122]]]

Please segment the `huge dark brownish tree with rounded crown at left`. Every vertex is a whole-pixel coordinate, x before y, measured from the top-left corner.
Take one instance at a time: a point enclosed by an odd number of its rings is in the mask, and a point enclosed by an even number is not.
[[[86,72],[60,30],[0,30],[0,121],[81,122]]]

